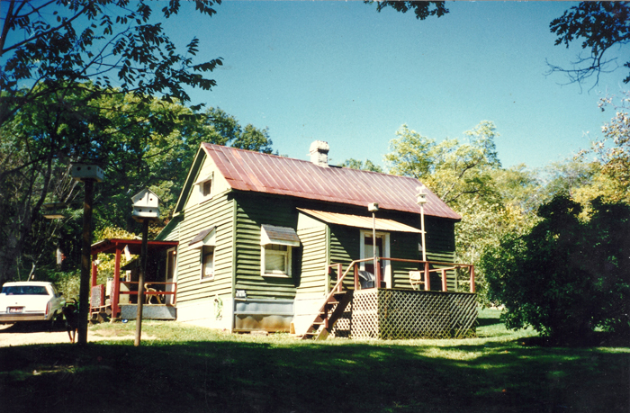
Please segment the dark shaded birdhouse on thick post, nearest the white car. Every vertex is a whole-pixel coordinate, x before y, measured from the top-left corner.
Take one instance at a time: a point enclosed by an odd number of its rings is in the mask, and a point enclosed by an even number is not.
[[[87,344],[87,315],[90,306],[90,273],[92,260],[90,250],[92,248],[92,203],[94,202],[94,182],[103,182],[103,169],[101,166],[87,163],[73,163],[70,166],[70,175],[76,181],[83,182],[85,186],[85,198],[83,202],[83,236],[81,240],[81,281],[79,284],[79,311],[78,311],[78,338],[79,345]]]

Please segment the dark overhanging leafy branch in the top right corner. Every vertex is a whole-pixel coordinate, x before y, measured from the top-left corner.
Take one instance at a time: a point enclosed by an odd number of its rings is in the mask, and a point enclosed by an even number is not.
[[[630,4],[627,2],[581,2],[550,23],[550,28],[558,37],[555,44],[567,48],[574,40],[581,40],[581,48],[588,50],[588,56],[578,56],[567,69],[550,65],[552,72],[563,72],[571,82],[581,83],[599,74],[619,67],[617,58],[610,58],[610,50],[630,42]],[[630,60],[622,62],[630,68]],[[630,75],[624,79],[630,82]]]

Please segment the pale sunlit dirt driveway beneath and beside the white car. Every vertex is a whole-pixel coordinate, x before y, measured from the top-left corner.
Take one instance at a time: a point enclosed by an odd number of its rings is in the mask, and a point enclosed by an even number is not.
[[[94,341],[102,340],[125,340],[133,339],[133,336],[122,337],[106,337],[95,334],[87,334],[87,342],[92,343]],[[142,339],[150,339],[152,337],[145,337],[142,334]],[[50,343],[69,343],[70,339],[67,337],[67,331],[65,328],[55,328],[49,330],[48,325],[43,323],[24,323],[24,324],[9,324],[0,325],[0,347],[8,346],[24,346],[31,344],[50,344]]]

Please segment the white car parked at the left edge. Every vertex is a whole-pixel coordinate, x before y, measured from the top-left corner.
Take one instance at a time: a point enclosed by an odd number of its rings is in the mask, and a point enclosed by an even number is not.
[[[22,321],[54,323],[65,304],[63,294],[52,283],[4,283],[0,292],[0,324]]]

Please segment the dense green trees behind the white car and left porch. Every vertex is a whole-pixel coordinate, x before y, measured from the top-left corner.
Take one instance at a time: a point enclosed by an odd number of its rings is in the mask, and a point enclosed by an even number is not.
[[[202,141],[270,152],[267,130],[219,108],[193,112],[179,103],[135,94],[93,94],[96,86],[58,91],[25,104],[0,127],[0,281],[23,264],[51,264],[59,247],[66,265],[78,261],[80,211],[66,220],[42,217],[48,202],[80,202],[83,185],[69,176],[70,163],[86,156],[101,163],[105,180],[95,185],[94,227],[137,230],[130,197],[149,187],[167,220]],[[87,99],[86,96],[99,96]],[[78,115],[77,115],[78,114]]]

